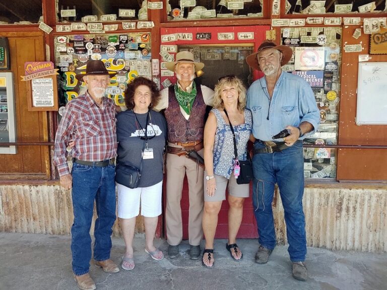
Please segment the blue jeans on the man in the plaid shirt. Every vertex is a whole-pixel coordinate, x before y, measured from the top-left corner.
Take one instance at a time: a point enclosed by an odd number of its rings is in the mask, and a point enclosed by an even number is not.
[[[73,271],[76,275],[89,272],[91,258],[90,227],[94,200],[98,218],[94,227],[94,259],[110,258],[112,226],[115,221],[115,166],[96,167],[74,162],[73,170],[74,223],[71,227]]]

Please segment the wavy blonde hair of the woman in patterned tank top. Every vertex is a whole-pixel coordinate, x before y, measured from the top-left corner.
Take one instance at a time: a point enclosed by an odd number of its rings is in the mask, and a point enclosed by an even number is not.
[[[244,87],[242,81],[235,76],[226,76],[219,79],[218,83],[215,85],[214,107],[222,109],[224,108],[223,100],[221,98],[221,91],[224,86],[234,86],[237,89],[237,108],[240,112],[243,112],[244,108],[246,107],[246,88]]]

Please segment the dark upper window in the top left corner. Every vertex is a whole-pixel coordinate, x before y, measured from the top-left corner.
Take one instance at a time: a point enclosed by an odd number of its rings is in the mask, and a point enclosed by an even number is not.
[[[34,24],[42,19],[42,0],[0,1],[0,24]]]

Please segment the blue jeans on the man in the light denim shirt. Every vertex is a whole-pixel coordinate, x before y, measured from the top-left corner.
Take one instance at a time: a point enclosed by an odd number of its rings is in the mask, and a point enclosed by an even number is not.
[[[254,149],[263,148],[259,142]],[[280,189],[285,211],[288,252],[292,262],[305,260],[305,216],[302,210],[304,194],[304,159],[302,141],[281,152],[258,153],[252,159],[254,174],[252,201],[258,226],[259,242],[267,249],[276,246],[272,202],[274,186]]]

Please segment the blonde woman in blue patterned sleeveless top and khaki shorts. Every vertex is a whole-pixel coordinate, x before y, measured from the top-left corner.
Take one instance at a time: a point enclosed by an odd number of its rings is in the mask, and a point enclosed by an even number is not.
[[[228,243],[226,249],[235,261],[240,261],[242,252],[236,244],[236,235],[242,221],[243,202],[249,196],[248,184],[237,184],[235,165],[233,126],[236,138],[238,160],[247,158],[247,142],[251,135],[251,112],[245,109],[246,89],[235,76],[219,79],[215,86],[214,108],[211,110],[204,129],[204,215],[203,230],[206,247],[202,264],[214,265],[214,237],[218,224],[218,214],[228,190]],[[227,111],[228,117],[225,114]]]

